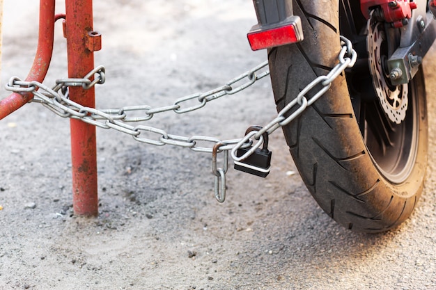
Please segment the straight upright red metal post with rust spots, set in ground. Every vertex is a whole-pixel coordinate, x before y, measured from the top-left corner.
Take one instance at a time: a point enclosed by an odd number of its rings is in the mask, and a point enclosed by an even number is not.
[[[93,1],[65,0],[68,76],[82,78],[94,68],[89,37],[93,31]],[[89,34],[88,34],[89,33]],[[82,106],[95,107],[94,88],[70,87],[70,99]],[[72,200],[75,214],[98,215],[97,145],[95,127],[70,120],[72,156]]]

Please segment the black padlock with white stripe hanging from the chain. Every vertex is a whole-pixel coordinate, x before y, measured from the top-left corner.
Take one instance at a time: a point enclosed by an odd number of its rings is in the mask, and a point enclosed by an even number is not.
[[[260,131],[262,127],[251,126],[245,132],[245,135],[249,134],[251,131]],[[263,146],[262,149],[258,148],[246,159],[241,161],[235,161],[235,169],[241,170],[243,172],[250,173],[252,175],[257,175],[260,177],[267,177],[270,174],[271,167],[271,154],[272,152],[268,150],[268,134],[265,132],[263,135]],[[247,153],[251,147],[240,148],[236,151],[236,156],[240,157]]]

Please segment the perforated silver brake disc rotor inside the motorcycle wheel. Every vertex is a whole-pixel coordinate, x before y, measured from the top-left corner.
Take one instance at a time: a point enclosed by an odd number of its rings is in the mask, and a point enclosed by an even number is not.
[[[377,22],[372,17],[368,20],[368,62],[373,86],[380,104],[389,120],[400,124],[406,116],[408,85],[393,86],[387,70],[387,35],[384,24]]]

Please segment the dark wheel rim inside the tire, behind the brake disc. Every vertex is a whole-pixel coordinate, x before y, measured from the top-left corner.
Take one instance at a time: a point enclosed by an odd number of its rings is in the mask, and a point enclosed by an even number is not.
[[[412,79],[405,85],[407,86],[405,89],[408,90],[406,97],[408,105],[407,109],[403,109],[405,111],[405,115],[402,116],[403,120],[393,122],[386,112],[386,104],[380,102],[381,99],[373,86],[372,73],[368,65],[368,58],[371,54],[366,51],[366,35],[361,33],[364,31],[366,20],[362,19],[360,12],[359,14],[352,12],[349,2],[343,1],[343,3],[341,13],[345,13],[343,15],[345,17],[340,18],[343,19],[341,20],[341,34],[352,39],[359,56],[357,65],[346,72],[357,122],[359,122],[366,148],[380,174],[389,182],[400,184],[410,176],[416,161],[419,134],[419,120],[417,119],[419,95],[416,90],[416,80]],[[387,54],[386,49],[381,51],[379,51],[380,54]],[[388,57],[387,55],[377,56],[380,59]],[[389,101],[387,96],[386,99]]]

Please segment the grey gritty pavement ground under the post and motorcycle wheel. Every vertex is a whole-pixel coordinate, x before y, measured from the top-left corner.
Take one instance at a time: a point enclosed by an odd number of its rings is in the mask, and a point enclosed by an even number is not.
[[[1,86],[25,78],[36,50],[38,3],[19,2],[4,0]],[[251,1],[94,1],[94,15],[103,37],[95,65],[107,70],[97,108],[171,105],[266,60],[247,44],[256,24]],[[357,234],[330,219],[295,173],[281,131],[270,136],[270,175],[230,168],[219,204],[210,154],[98,128],[100,214],[75,216],[69,120],[27,104],[0,121],[0,289],[436,289],[435,57],[432,50],[423,63],[430,115],[423,195],[412,217],[384,234]],[[56,24],[45,83],[65,76]],[[275,114],[265,78],[146,124],[229,140]]]

